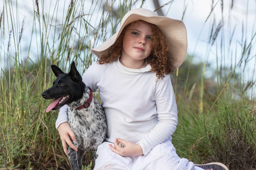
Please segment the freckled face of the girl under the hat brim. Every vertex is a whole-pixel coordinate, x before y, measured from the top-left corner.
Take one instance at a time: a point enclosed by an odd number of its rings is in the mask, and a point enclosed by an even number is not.
[[[132,23],[124,32],[121,58],[126,61],[144,62],[152,51],[152,27],[142,21]]]

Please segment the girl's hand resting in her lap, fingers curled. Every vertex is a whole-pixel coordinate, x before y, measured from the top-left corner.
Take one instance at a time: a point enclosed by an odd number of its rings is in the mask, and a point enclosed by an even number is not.
[[[121,143],[123,145],[118,145],[118,143]],[[140,156],[143,155],[142,148],[139,144],[134,144],[126,140],[122,140],[117,138],[114,142],[114,147],[109,144],[110,149],[121,155],[121,156]]]

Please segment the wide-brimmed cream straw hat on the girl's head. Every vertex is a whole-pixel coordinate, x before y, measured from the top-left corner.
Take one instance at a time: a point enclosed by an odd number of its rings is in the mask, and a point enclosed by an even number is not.
[[[110,46],[116,42],[124,27],[137,20],[152,23],[162,30],[169,43],[169,61],[177,69],[187,55],[187,30],[184,23],[181,20],[158,16],[153,11],[143,8],[136,8],[127,12],[122,19],[119,31],[98,47],[92,48],[91,52],[97,57],[108,54]]]

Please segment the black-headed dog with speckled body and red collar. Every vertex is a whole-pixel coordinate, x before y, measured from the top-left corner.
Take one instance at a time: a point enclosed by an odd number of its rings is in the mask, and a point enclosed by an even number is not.
[[[76,152],[68,146],[69,163],[73,170],[81,170],[84,152],[91,150],[95,160],[97,147],[105,139],[105,112],[93,97],[91,88],[83,83],[74,61],[68,74],[56,65],[51,65],[51,69],[57,78],[53,86],[42,93],[42,97],[55,99],[46,112],[58,110],[65,104],[68,106],[68,123],[76,136],[76,141],[72,142],[78,148]]]

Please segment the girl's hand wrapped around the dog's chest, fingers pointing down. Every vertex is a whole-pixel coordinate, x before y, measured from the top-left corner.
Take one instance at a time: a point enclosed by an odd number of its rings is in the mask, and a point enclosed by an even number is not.
[[[59,135],[61,137],[61,142],[62,142],[62,147],[63,150],[65,152],[65,154],[68,157],[68,153],[67,153],[67,144],[74,149],[75,151],[77,151],[77,148],[75,147],[75,145],[72,143],[72,141],[70,140],[70,137],[72,138],[73,141],[76,140],[75,138],[75,133],[72,131],[72,129],[70,128],[68,122],[64,122],[61,123],[58,127],[58,131],[59,131]],[[69,137],[70,136],[70,137]]]

